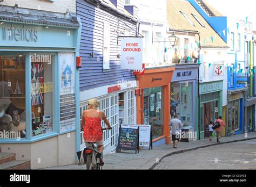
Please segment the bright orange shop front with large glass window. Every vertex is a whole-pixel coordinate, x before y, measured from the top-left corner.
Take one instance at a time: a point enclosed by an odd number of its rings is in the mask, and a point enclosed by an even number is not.
[[[136,75],[137,124],[151,125],[153,145],[170,144],[170,82],[175,66],[146,68]]]

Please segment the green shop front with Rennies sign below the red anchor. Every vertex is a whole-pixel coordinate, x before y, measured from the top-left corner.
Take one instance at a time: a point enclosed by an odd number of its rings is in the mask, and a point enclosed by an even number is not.
[[[209,137],[208,125],[222,115],[223,81],[204,82],[199,85],[200,139]]]

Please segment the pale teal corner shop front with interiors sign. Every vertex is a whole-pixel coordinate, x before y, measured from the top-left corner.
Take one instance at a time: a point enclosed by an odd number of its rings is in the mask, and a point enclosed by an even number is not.
[[[36,10],[31,11],[37,15]],[[76,130],[80,130],[76,112],[80,21],[71,14],[64,18],[58,13],[53,21],[45,20],[38,13],[27,24],[29,15],[14,10],[13,22],[9,22],[1,13],[2,152],[30,161],[31,169],[75,163]]]

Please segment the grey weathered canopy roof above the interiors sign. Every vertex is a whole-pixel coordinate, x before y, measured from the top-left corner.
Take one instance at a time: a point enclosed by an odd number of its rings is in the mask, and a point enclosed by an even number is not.
[[[0,21],[69,28],[79,27],[77,17],[72,12],[56,13],[43,10],[14,8],[12,6],[0,6]]]

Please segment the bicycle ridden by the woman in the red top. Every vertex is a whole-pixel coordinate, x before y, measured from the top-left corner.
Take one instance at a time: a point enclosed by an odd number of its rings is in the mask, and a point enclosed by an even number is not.
[[[111,128],[108,128],[110,130]],[[102,131],[107,130],[107,128],[102,128]],[[86,169],[98,170],[102,169],[100,166],[101,153],[98,152],[98,147],[96,142],[87,142],[89,146],[85,148],[86,153]],[[94,160],[95,159],[95,160]]]

